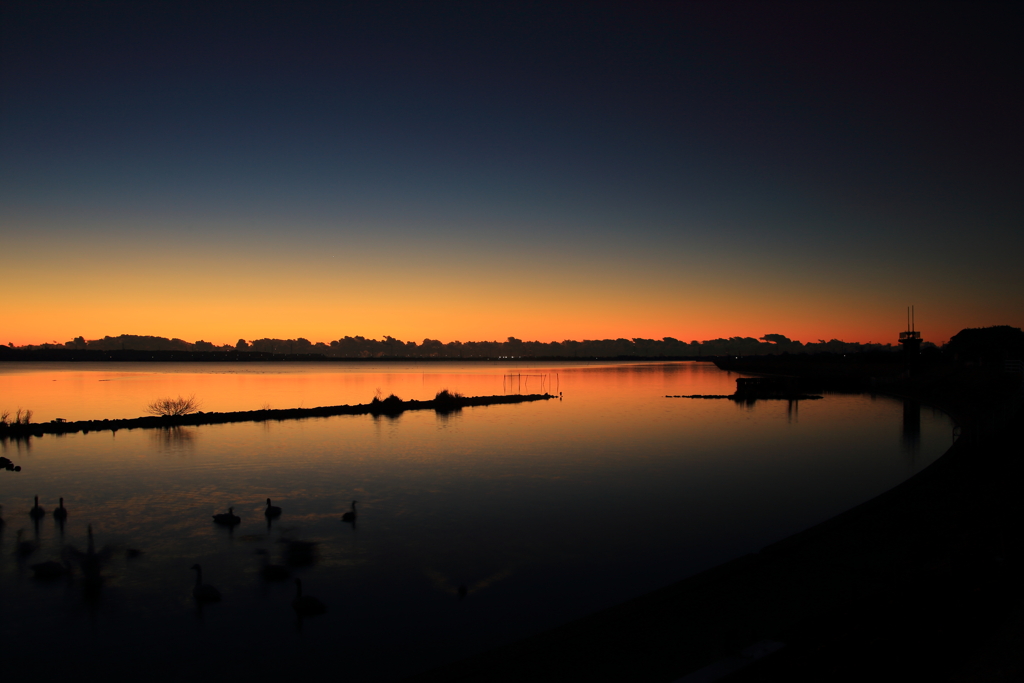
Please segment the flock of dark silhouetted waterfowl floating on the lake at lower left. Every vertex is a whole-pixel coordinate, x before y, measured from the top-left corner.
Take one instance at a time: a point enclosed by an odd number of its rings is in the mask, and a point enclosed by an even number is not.
[[[355,523],[356,520],[356,509],[355,505],[358,501],[352,501],[352,507],[350,510],[345,512],[341,519],[344,522]],[[3,511],[3,506],[0,506],[0,513]],[[60,499],[60,504],[53,510],[53,518],[61,525],[68,519],[68,510],[65,508],[63,499]],[[282,515],[282,509],[270,503],[270,499],[266,499],[266,508],[263,511],[264,516],[269,524],[270,520],[276,519]],[[29,510],[29,516],[36,522],[46,516],[46,510],[39,505],[39,497],[35,497],[35,505]],[[234,508],[228,508],[227,512],[222,512],[213,515],[213,521],[217,524],[221,524],[228,527],[233,527],[237,524],[242,523],[242,518],[234,514]],[[0,528],[4,526],[3,517],[0,516]],[[62,526],[61,526],[62,528]],[[23,540],[24,529],[18,529],[17,540],[15,542],[15,554],[20,559],[26,559],[32,555],[39,547],[39,544],[35,541]],[[89,545],[85,552],[81,552],[74,548],[66,548],[66,552],[62,556],[61,562],[56,562],[49,560],[46,562],[39,562],[30,566],[33,572],[33,577],[39,580],[52,580],[59,579],[61,577],[70,577],[72,574],[72,560],[78,563],[83,581],[86,587],[98,587],[101,582],[101,569],[102,565],[110,559],[112,550],[110,548],[104,548],[101,551],[96,551],[95,543],[92,538],[92,525],[88,526],[89,535]],[[310,543],[306,541],[285,541],[286,546],[286,557],[288,559],[288,564],[292,566],[303,566],[310,565],[313,563],[314,553],[315,553],[315,543]],[[287,581],[291,578],[291,570],[288,566],[282,564],[271,564],[269,559],[269,554],[265,550],[257,550],[257,554],[263,557],[263,565],[260,569],[260,575],[266,581]],[[126,555],[129,558],[137,557],[141,554],[141,551],[129,548],[126,551]],[[199,564],[194,564],[191,569],[196,572],[196,585],[193,587],[193,598],[199,604],[219,602],[221,599],[220,591],[218,591],[214,586],[203,583],[203,567]],[[321,602],[318,599],[311,595],[304,595],[302,593],[302,581],[300,579],[295,579],[295,599],[292,600],[292,607],[295,609],[296,614],[299,616],[310,616],[314,614],[323,614],[327,611],[327,605]]]

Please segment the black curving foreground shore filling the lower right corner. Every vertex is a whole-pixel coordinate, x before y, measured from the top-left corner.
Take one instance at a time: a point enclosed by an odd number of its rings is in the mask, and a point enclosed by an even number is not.
[[[963,433],[899,486],[760,552],[411,680],[674,681],[761,641],[784,647],[706,680],[1024,678],[1019,395],[986,400],[948,377],[930,381],[900,389]]]

